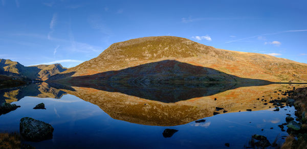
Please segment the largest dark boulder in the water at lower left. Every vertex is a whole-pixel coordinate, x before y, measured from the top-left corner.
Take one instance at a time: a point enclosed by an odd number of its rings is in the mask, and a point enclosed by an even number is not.
[[[20,119],[20,134],[27,141],[42,141],[52,139],[53,127],[46,122],[30,117]]]

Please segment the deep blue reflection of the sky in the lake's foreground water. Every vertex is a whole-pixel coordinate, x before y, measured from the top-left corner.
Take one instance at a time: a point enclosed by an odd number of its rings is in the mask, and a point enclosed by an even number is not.
[[[42,102],[46,110],[32,109]],[[242,148],[253,134],[265,135],[271,143],[276,136],[287,135],[277,125],[285,122],[287,113],[294,115],[294,108],[284,107],[288,110],[218,114],[203,118],[206,122],[202,123],[192,121],[186,125],[160,127],[113,119],[98,106],[69,94],[61,99],[24,97],[14,104],[21,108],[0,116],[0,132],[19,131],[22,117],[48,122],[55,129],[53,139],[28,142],[38,148],[223,148],[225,143],[230,143],[230,148]],[[178,132],[164,138],[162,132],[167,128]]]

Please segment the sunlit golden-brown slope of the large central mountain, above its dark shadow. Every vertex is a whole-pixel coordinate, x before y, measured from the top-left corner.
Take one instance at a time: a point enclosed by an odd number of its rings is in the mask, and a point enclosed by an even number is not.
[[[60,78],[117,71],[163,60],[212,68],[240,78],[307,82],[307,64],[264,54],[218,49],[172,36],[144,37],[114,43],[98,57],[61,72],[74,73],[72,76]]]

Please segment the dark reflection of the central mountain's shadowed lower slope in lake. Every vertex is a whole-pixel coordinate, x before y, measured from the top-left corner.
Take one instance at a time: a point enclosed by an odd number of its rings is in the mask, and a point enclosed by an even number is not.
[[[95,82],[76,84],[78,87],[90,87],[108,92],[120,92],[151,101],[176,103],[195,97],[210,96],[226,90],[244,86],[262,86],[269,83],[120,83]]]

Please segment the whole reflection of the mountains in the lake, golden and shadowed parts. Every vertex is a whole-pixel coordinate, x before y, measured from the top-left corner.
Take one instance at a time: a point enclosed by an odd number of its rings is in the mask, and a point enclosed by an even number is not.
[[[98,88],[99,86],[99,88]],[[97,105],[114,119],[150,126],[177,126],[214,112],[238,112],[246,109],[264,110],[272,106],[257,98],[270,101],[283,97],[273,93],[287,90],[287,84],[94,84],[91,87],[30,84],[0,90],[1,102],[19,101],[25,96],[61,98],[69,93]],[[293,86],[292,86],[293,87]],[[219,107],[219,108],[216,108]],[[218,111],[218,109],[223,110]]]

